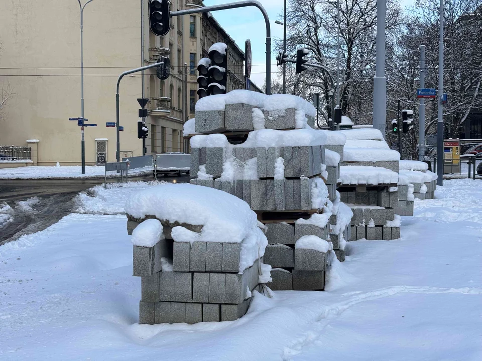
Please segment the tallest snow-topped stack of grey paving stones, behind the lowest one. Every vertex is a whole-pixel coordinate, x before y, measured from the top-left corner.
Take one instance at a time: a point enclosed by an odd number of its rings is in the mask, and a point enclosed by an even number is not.
[[[232,93],[226,95],[231,102]],[[256,106],[226,102],[223,110],[202,107],[212,99],[196,104],[195,132],[204,135],[191,138],[191,183],[231,193],[256,211],[266,226],[263,262],[272,267],[270,288],[323,290],[331,215],[322,177],[326,136],[309,126],[316,111],[306,101],[284,94],[259,97],[251,99]],[[285,109],[273,109],[277,105]],[[310,242],[303,237],[321,246],[306,248]],[[297,246],[300,239],[303,246]]]

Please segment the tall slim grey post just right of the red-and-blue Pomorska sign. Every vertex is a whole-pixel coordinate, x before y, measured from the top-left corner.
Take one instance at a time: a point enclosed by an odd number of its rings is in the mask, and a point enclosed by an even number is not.
[[[438,120],[437,120],[437,185],[443,185],[443,0],[440,0],[440,34],[438,41]]]

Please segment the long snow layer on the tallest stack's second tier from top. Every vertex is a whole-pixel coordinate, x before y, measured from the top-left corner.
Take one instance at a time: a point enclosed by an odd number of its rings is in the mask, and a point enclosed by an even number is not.
[[[204,98],[203,98],[204,99]],[[224,134],[195,135],[191,138],[192,148],[256,148],[284,146],[324,145],[325,133],[312,128],[294,130],[260,129],[251,131],[242,144],[232,145]]]

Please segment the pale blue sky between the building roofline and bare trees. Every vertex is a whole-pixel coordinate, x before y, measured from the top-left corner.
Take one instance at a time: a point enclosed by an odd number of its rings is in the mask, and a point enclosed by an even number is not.
[[[234,1],[234,0],[233,0]],[[272,44],[274,38],[283,37],[283,26],[275,24],[278,15],[283,12],[283,0],[259,0],[270,18]],[[204,5],[228,3],[229,0],[204,0]],[[410,6],[413,0],[401,0],[403,6]],[[245,40],[251,39],[253,67],[251,79],[260,87],[265,79],[266,63],[266,27],[261,12],[255,7],[220,10],[212,13],[226,32],[236,41],[241,49],[245,48]],[[271,74],[276,77],[276,50],[271,49]]]

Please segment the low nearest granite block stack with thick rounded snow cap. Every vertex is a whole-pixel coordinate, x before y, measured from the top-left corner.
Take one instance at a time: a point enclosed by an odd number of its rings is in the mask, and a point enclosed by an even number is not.
[[[125,209],[140,324],[235,320],[270,280],[266,236],[237,197],[168,184],[132,195]]]

